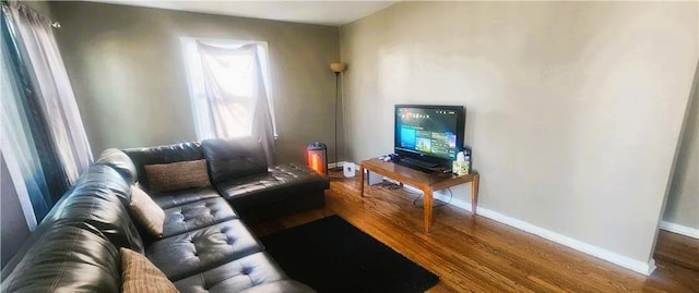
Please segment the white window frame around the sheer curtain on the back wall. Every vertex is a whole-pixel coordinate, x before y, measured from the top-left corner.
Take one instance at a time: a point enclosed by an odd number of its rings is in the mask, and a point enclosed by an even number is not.
[[[197,41],[221,48],[239,48],[250,44],[257,45],[258,59],[260,60],[260,66],[262,68],[262,80],[266,91],[270,114],[272,115],[274,139],[277,139],[279,134],[276,132],[276,115],[274,114],[274,95],[272,90],[272,75],[270,74],[268,42],[260,40],[180,37],[180,47],[182,48],[182,57],[185,59],[185,80],[187,80],[189,88],[189,100],[192,107],[197,139],[202,141],[215,137],[211,132],[213,127],[211,125],[211,119],[209,119],[209,106],[208,103],[201,102],[201,99],[206,99],[206,94],[203,88],[203,70],[200,61],[201,59],[194,58],[194,56],[199,54],[197,50]]]

